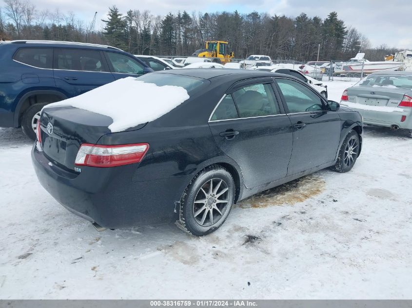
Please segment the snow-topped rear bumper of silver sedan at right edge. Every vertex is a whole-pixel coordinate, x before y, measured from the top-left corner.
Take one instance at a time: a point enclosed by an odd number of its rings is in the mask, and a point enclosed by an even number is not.
[[[340,104],[347,106],[346,102],[341,101]],[[375,111],[357,108],[354,103],[349,104],[349,108],[358,111],[363,116],[363,123],[375,126],[392,127],[393,125],[399,128],[412,129],[412,108],[411,110],[401,109],[402,111]],[[361,104],[358,104],[361,105]],[[382,107],[382,109],[385,107]],[[405,121],[401,122],[402,116],[406,116]]]

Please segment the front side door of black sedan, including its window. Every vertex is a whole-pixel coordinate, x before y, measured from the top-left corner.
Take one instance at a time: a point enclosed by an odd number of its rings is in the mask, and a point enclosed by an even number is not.
[[[335,160],[341,133],[336,111],[309,86],[289,78],[275,78],[293,127],[293,151],[288,176]]]

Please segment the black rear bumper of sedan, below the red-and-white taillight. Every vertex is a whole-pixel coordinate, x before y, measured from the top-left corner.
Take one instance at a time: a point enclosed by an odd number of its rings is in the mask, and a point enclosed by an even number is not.
[[[133,165],[85,167],[78,174],[53,165],[35,145],[31,156],[40,184],[53,198],[69,211],[105,228],[173,221],[177,218],[176,201],[191,178],[133,181]]]

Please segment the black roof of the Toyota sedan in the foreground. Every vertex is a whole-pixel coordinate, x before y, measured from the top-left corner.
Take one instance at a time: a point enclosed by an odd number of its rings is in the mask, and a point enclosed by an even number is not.
[[[182,76],[191,76],[203,79],[212,79],[219,76],[227,76],[227,79],[241,80],[254,77],[275,77],[284,76],[284,74],[265,72],[265,71],[255,71],[255,70],[241,70],[241,69],[181,69],[173,71],[159,71],[159,74],[176,74]]]

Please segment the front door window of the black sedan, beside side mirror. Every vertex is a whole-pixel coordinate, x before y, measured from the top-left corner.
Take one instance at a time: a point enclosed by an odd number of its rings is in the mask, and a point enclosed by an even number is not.
[[[306,86],[290,79],[276,79],[288,106],[289,113],[322,110],[319,96]]]

